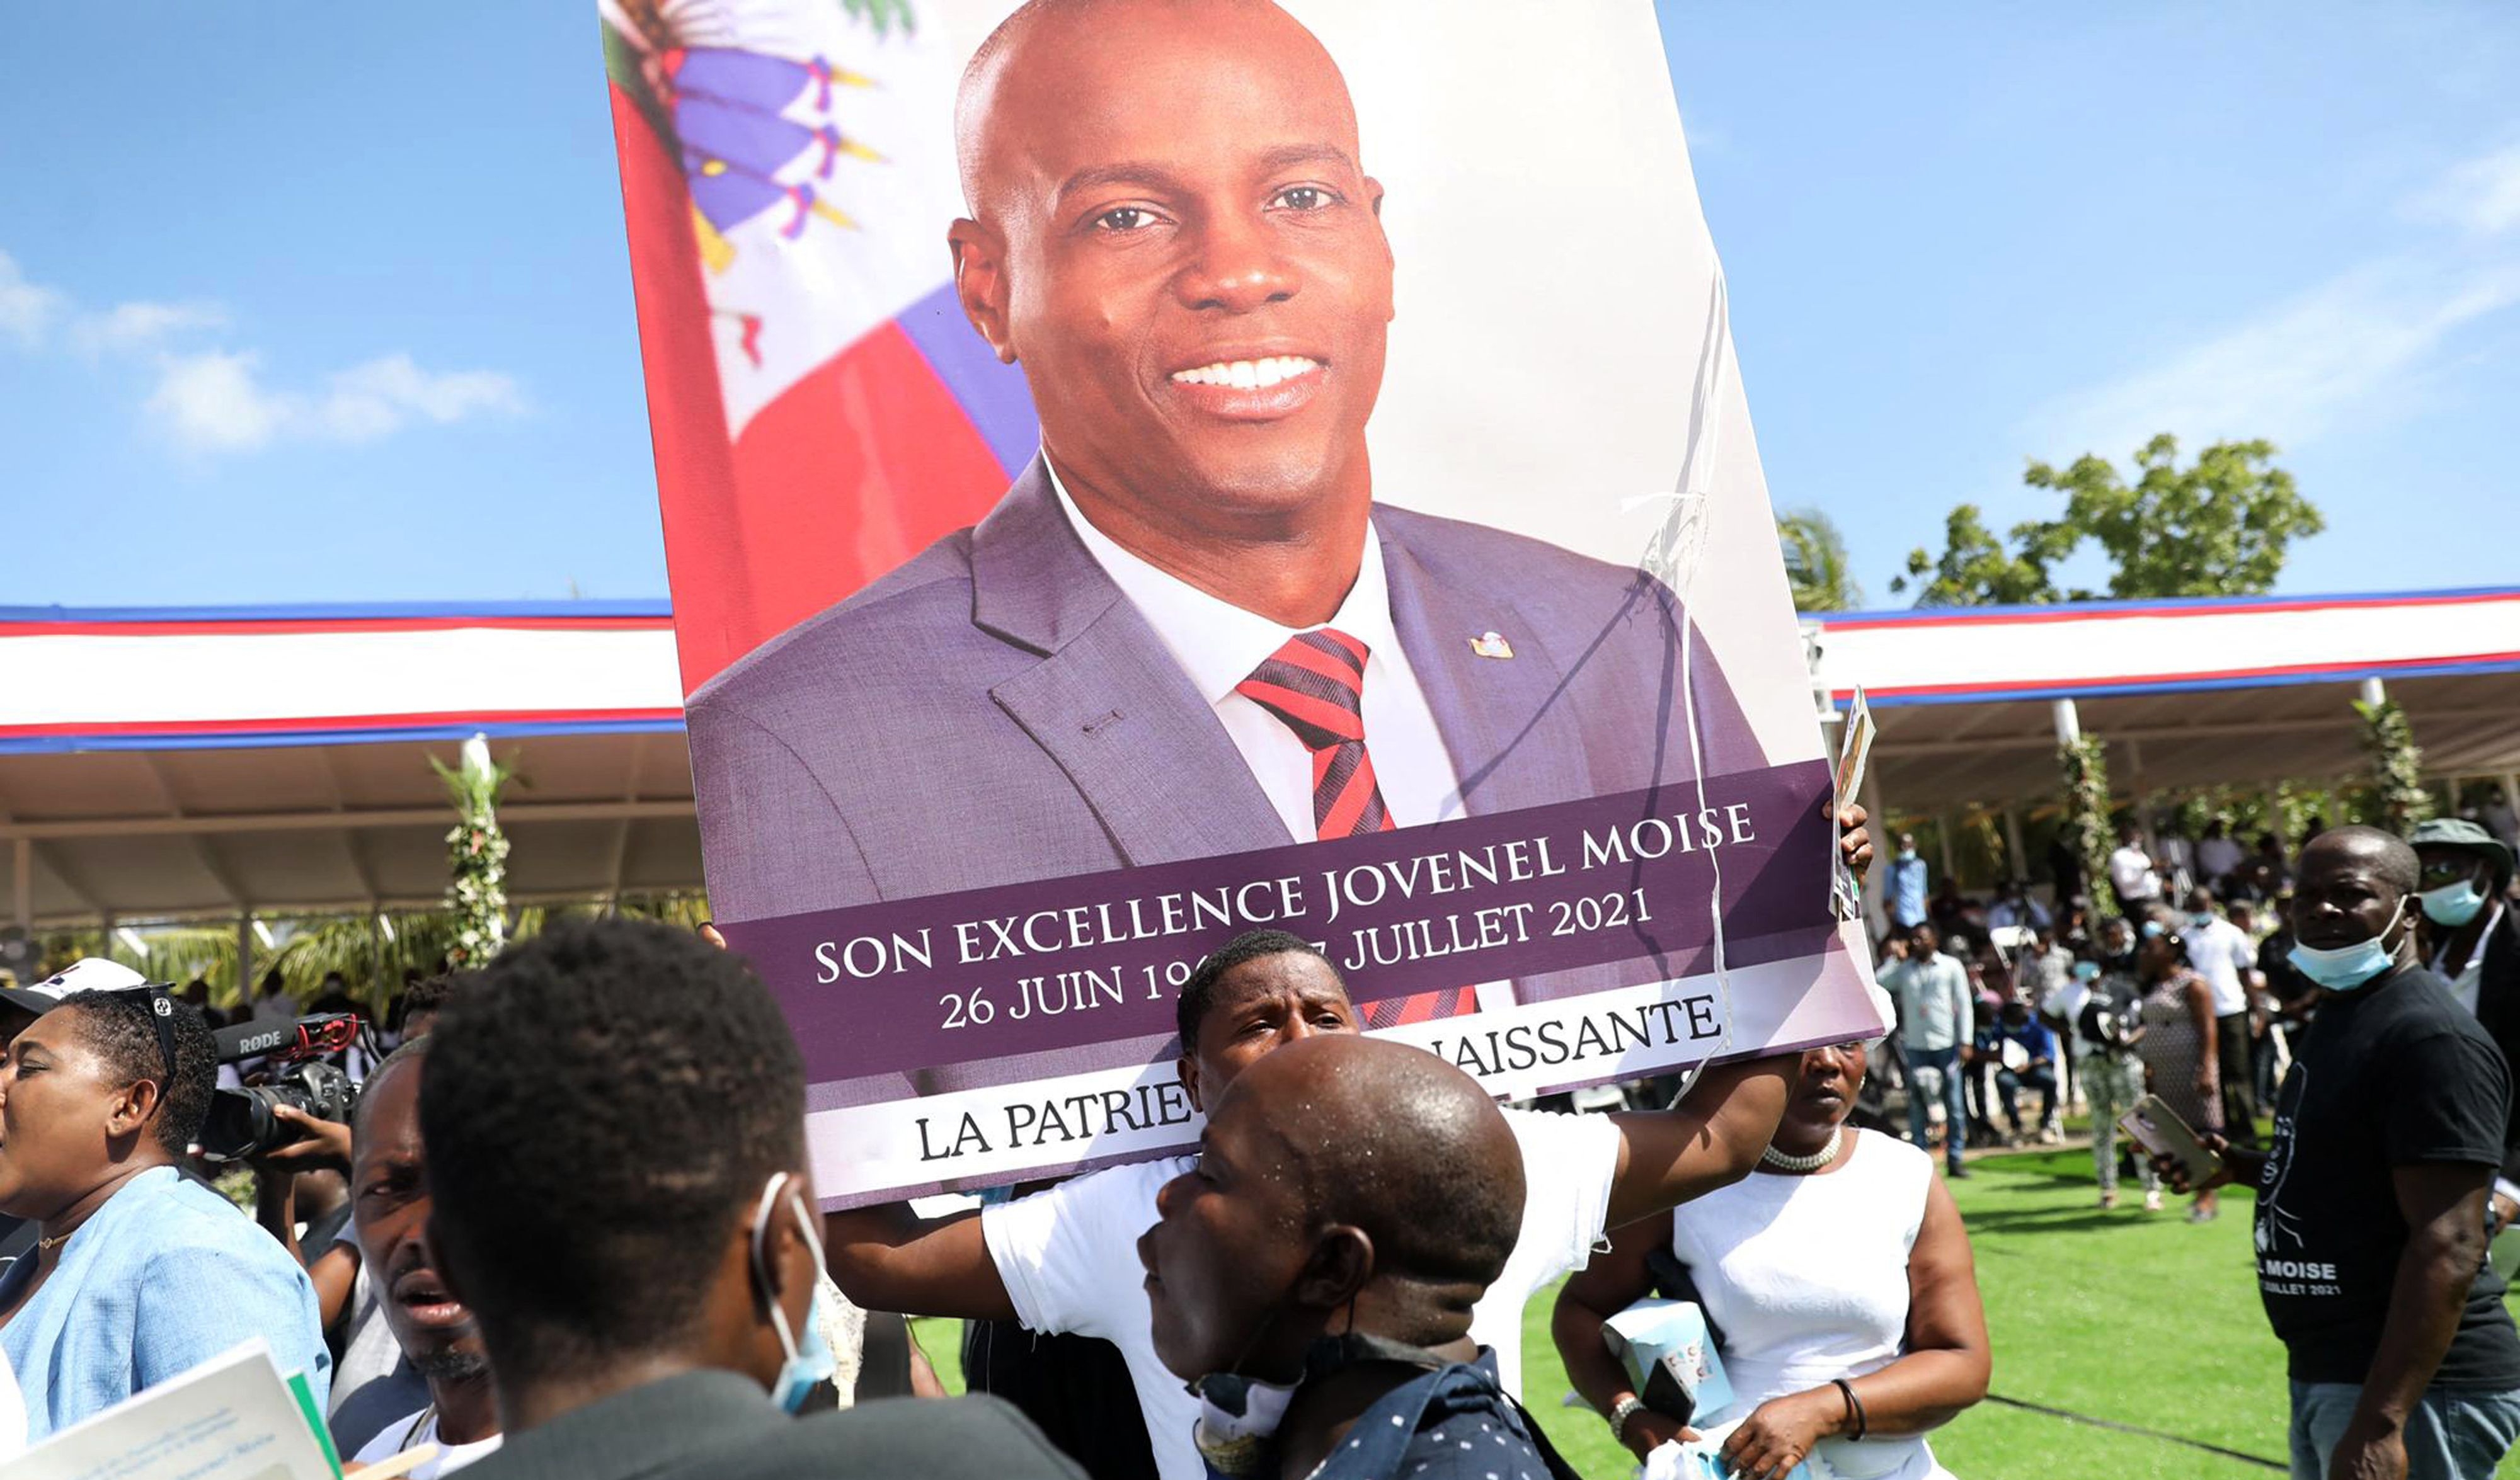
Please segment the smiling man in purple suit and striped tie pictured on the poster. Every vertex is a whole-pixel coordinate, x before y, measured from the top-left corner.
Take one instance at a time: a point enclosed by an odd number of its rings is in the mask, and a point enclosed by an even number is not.
[[[1767,765],[1663,581],[1376,488],[1401,264],[1298,20],[1036,0],[955,131],[960,305],[1023,370],[1041,456],[690,697],[721,919]]]

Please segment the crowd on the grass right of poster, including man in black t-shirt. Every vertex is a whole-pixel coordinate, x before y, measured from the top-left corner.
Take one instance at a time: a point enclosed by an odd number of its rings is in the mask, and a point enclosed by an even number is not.
[[[1908,1138],[1968,1175],[1966,1145],[2029,1138],[2036,1090],[2046,1143],[2059,1100],[2089,1105],[2102,1208],[2129,1173],[2147,1211],[2190,1193],[2195,1223],[2220,1188],[2255,1188],[2301,1477],[2487,1475],[2520,1437],[2520,1339],[2485,1261],[2520,1216],[2510,831],[2507,810],[2404,838],[2321,823],[2288,856],[2220,826],[2147,846],[2127,823],[2117,914],[2071,868],[2049,906],[2019,878],[1991,901],[1928,889],[1913,836],[1890,863],[1882,1080],[1905,1087]],[[2145,1095],[2210,1170],[2119,1140]]]

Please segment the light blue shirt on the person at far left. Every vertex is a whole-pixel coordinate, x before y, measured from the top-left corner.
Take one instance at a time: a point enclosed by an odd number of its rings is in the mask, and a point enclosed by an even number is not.
[[[171,1165],[144,1170],[60,1246],[43,1289],[0,1326],[25,1435],[43,1440],[262,1337],[320,1404],[333,1382],[315,1286],[277,1238]],[[0,1274],[0,1304],[35,1256]]]

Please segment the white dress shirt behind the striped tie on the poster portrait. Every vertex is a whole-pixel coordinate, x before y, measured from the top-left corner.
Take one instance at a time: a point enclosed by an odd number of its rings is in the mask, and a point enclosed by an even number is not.
[[[1313,750],[1295,737],[1285,720],[1237,695],[1235,685],[1247,680],[1290,637],[1315,632],[1315,627],[1280,627],[1129,554],[1076,511],[1048,456],[1041,463],[1051,471],[1051,491],[1086,554],[1154,627],[1164,649],[1217,712],[1217,722],[1225,725],[1242,765],[1250,765],[1252,780],[1285,821],[1288,836],[1310,843],[1315,838]],[[1426,692],[1409,670],[1409,654],[1401,652],[1399,632],[1391,627],[1391,586],[1383,584],[1381,534],[1366,539],[1356,584],[1348,586],[1338,614],[1320,627],[1346,632],[1363,642],[1371,654],[1363,692],[1366,753],[1373,758],[1373,778],[1383,790],[1391,821],[1409,828],[1459,818],[1462,783],[1444,750],[1444,735],[1434,727]],[[1467,632],[1462,637],[1469,639]]]

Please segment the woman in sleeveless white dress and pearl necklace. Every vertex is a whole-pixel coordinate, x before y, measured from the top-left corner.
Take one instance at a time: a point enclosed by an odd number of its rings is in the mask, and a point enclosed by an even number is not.
[[[1802,1055],[1759,1170],[1628,1223],[1557,1296],[1567,1377],[1638,1457],[1693,1430],[1638,1407],[1603,1321],[1653,1294],[1648,1256],[1688,1269],[1734,1387],[1734,1475],[1945,1475],[1925,1432],[1986,1397],[1986,1306],[1968,1231],[1923,1150],[1850,1128],[1867,1045]]]

